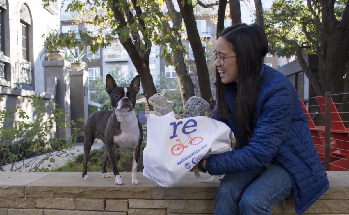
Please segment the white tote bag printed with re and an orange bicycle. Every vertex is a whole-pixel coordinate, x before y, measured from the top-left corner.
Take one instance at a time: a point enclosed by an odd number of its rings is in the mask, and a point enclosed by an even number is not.
[[[173,186],[203,157],[231,151],[230,135],[229,126],[205,116],[177,120],[174,112],[149,114],[143,176]]]

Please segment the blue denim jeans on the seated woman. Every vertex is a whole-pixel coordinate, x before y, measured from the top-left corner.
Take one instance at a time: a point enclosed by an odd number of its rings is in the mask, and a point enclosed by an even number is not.
[[[272,214],[270,207],[292,194],[292,181],[281,167],[227,174],[215,192],[215,214]]]

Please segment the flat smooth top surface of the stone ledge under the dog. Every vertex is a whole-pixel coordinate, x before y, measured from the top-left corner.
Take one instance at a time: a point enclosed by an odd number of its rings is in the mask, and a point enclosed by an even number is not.
[[[327,171],[330,187],[349,187],[348,171]],[[112,172],[110,173],[112,175]],[[210,177],[207,173],[200,173],[203,178]],[[140,185],[132,185],[131,172],[120,172],[124,185],[132,187],[158,187],[159,185],[137,172]],[[89,181],[83,181],[81,172],[0,172],[0,186],[83,186],[83,187],[111,187],[116,186],[114,177],[103,178],[101,172],[88,172]],[[201,183],[194,172],[188,172],[181,181],[173,187],[218,187],[219,177],[210,183]],[[120,187],[122,187],[120,186]]]

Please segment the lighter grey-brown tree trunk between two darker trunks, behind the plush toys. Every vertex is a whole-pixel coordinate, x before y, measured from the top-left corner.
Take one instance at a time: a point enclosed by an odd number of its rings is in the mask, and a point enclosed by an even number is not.
[[[182,28],[182,15],[174,9],[172,0],[166,0],[166,6],[168,11],[170,12],[170,18],[173,22],[173,26],[171,30],[174,31],[177,36],[177,39],[172,38],[171,43],[178,44],[179,47],[183,47],[181,32],[177,30]],[[170,28],[168,23],[165,23],[165,25],[167,25]],[[179,91],[182,97],[183,108],[184,108],[185,104],[187,103],[187,100],[190,97],[194,96],[195,93],[194,93],[194,84],[192,82],[192,79],[186,67],[186,64],[184,61],[184,53],[182,49],[173,51],[172,62],[175,65],[174,70],[176,70]]]

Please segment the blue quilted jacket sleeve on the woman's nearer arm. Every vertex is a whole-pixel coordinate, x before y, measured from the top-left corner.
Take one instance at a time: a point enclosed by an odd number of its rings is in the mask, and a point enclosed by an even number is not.
[[[277,153],[282,139],[290,128],[295,106],[294,89],[277,82],[267,91],[262,113],[257,120],[248,146],[215,154],[207,159],[210,175],[244,172],[264,166]]]

